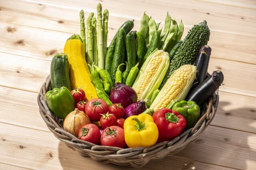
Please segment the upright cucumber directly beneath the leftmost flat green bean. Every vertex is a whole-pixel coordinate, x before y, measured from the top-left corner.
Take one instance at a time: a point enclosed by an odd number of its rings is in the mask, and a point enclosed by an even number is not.
[[[136,32],[137,34],[137,40],[138,43],[138,50],[137,50],[137,63],[139,63],[138,68],[140,69],[143,65],[144,56],[147,53],[147,46],[146,46],[146,40],[144,36],[140,32]]]

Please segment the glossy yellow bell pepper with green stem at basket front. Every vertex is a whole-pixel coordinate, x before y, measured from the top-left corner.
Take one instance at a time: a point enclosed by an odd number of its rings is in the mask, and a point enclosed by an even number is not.
[[[149,147],[156,144],[158,128],[146,113],[130,116],[124,121],[124,138],[130,148]]]

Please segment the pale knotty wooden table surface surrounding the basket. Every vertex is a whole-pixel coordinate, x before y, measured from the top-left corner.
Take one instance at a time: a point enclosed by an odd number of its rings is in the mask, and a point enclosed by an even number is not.
[[[167,11],[182,19],[183,38],[207,20],[209,72],[224,73],[211,125],[182,152],[143,169],[256,169],[255,0],[0,0],[0,169],[130,169],[66,147],[48,130],[36,102],[52,57],[70,35],[80,34],[79,11],[87,18],[99,2],[110,12],[108,43],[126,20],[134,19],[138,30],[144,11],[156,22]]]

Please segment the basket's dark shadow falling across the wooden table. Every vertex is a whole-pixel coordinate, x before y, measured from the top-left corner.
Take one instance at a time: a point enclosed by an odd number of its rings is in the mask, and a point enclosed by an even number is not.
[[[216,116],[212,123],[218,121],[217,119],[222,119],[222,123],[227,124],[224,127],[228,127],[230,122],[234,123],[234,120],[239,121],[240,119],[244,119],[247,124],[255,122],[256,112],[254,108],[233,109],[229,108],[228,105],[230,105],[229,102],[219,103]],[[223,117],[223,114],[225,117]],[[232,121],[228,119],[231,116],[233,116]],[[239,125],[243,125],[243,123],[239,123]],[[250,127],[250,131],[252,130],[253,132],[256,131],[256,129]],[[234,134],[236,132],[238,133],[237,137]],[[250,162],[256,161],[256,158],[253,156],[256,153],[248,145],[248,135],[247,132],[210,126],[180,153],[174,156],[167,156],[163,160],[151,161],[140,169],[218,169],[220,166],[246,169],[248,167],[246,163],[248,160]],[[103,164],[91,158],[84,158],[77,151],[68,148],[63,142],[59,143],[58,153],[63,169],[134,169],[132,167]]]

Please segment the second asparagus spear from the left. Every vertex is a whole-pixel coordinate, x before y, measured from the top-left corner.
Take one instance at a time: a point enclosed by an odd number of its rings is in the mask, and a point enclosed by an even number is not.
[[[93,63],[92,19],[90,17],[87,18],[86,24],[87,24],[87,63],[92,65],[92,63]]]

